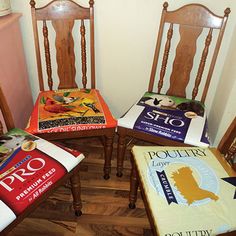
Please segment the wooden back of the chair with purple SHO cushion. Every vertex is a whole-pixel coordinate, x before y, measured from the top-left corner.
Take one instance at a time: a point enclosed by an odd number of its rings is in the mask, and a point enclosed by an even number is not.
[[[163,4],[148,91],[157,91],[158,93],[186,97],[186,88],[190,85],[193,86],[191,89],[191,99],[195,99],[198,95],[199,100],[204,102],[230,9],[226,8],[224,11],[224,16],[221,17],[215,15],[208,8],[200,4],[188,4],[175,11],[168,11],[167,8],[168,3],[165,2]],[[166,27],[168,28],[167,37],[165,42],[162,43],[165,37],[163,32],[165,32],[164,29]],[[172,41],[174,41],[174,35],[178,34],[178,28],[180,39],[176,49],[174,50],[172,48]],[[207,34],[206,36],[204,32],[207,32],[205,33]],[[202,37],[204,37],[204,39],[200,40]],[[212,42],[214,37],[216,37],[216,40],[213,45]],[[200,41],[204,42],[203,47],[200,47]],[[159,81],[155,82],[155,77],[158,77],[156,76],[157,65],[158,61],[161,60],[159,58],[159,54],[162,48],[163,57],[159,71]],[[201,56],[197,62],[198,58],[195,55],[197,55],[198,50],[201,50]],[[212,51],[212,56],[208,58],[210,51]],[[175,54],[173,65],[171,65],[171,61],[168,60],[170,53]],[[205,66],[206,63],[209,65],[208,72],[205,72],[205,69],[207,68],[207,66]],[[193,64],[198,64],[196,75],[192,75],[194,72]],[[166,88],[166,91],[163,91],[164,79],[165,81],[167,80],[165,78],[167,67],[172,68],[169,79],[170,85]],[[205,80],[203,79],[203,75],[206,75]],[[194,77],[194,82],[190,83],[190,78]],[[205,81],[205,84],[201,85],[200,88],[200,83],[203,81]],[[157,89],[154,89],[154,85]],[[187,91],[189,91],[188,89]],[[201,94],[199,90],[201,90]]]

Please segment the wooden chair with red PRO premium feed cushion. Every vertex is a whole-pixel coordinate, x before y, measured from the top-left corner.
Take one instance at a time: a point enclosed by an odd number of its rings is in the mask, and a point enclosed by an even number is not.
[[[0,110],[5,121],[0,122],[0,235],[11,231],[67,180],[75,214],[80,216],[79,163],[84,155],[14,128],[1,87]],[[3,127],[8,130],[4,135]]]

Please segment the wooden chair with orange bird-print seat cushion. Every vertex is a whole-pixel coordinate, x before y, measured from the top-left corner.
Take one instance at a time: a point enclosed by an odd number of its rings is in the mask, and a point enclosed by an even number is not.
[[[31,0],[30,5],[40,94],[26,130],[47,140],[101,137],[105,148],[104,178],[108,179],[117,121],[96,89],[94,1],[89,1],[89,7],[71,0],[54,0],[40,8]],[[89,28],[88,36],[86,28]],[[55,57],[51,49],[55,49]],[[87,79],[87,51],[90,52],[91,80]],[[80,53],[81,68],[78,69]],[[57,65],[57,72],[52,70],[52,64]],[[76,69],[81,70],[81,82]]]

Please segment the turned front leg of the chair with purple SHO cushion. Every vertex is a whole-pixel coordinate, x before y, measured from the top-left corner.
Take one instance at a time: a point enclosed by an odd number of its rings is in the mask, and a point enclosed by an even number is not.
[[[117,177],[123,175],[124,156],[126,150],[125,135],[119,134],[118,147],[117,147]]]

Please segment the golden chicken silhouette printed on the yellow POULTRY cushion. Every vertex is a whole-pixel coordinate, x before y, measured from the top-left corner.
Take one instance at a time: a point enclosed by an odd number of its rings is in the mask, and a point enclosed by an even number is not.
[[[219,197],[213,192],[202,189],[199,187],[195,180],[192,170],[189,167],[182,167],[172,173],[171,176],[175,182],[175,186],[180,191],[182,196],[187,200],[190,205],[194,201],[210,198],[212,200],[218,200]]]

